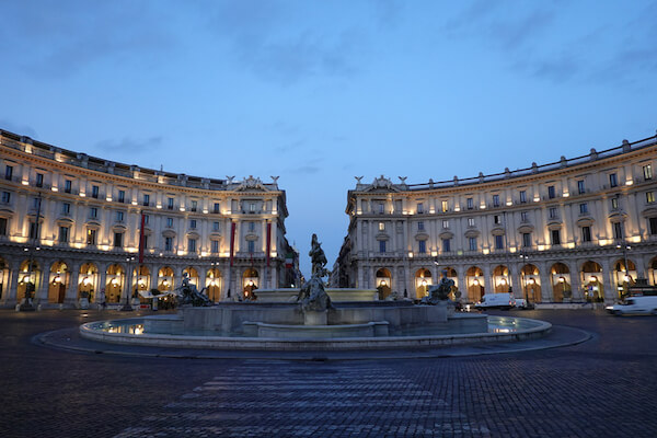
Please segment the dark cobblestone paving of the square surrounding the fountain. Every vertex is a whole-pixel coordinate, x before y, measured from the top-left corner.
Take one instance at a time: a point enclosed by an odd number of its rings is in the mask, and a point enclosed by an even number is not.
[[[136,358],[30,343],[37,333],[97,313],[0,311],[0,434],[657,436],[657,318],[590,310],[511,314],[579,327],[593,338],[549,350],[439,359]]]

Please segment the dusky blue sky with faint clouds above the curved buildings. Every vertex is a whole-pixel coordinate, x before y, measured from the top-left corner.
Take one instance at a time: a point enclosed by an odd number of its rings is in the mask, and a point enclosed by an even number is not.
[[[354,176],[497,173],[653,136],[655,1],[3,1],[0,128],[279,175],[333,264]],[[308,274],[308,273],[307,273]]]

